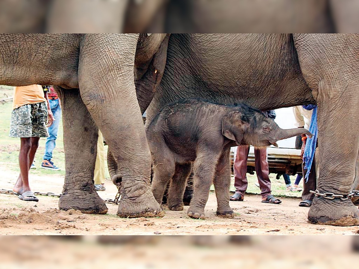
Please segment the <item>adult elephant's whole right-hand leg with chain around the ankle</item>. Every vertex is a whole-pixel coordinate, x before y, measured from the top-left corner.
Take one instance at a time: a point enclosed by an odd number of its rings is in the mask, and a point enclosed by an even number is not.
[[[346,198],[354,183],[359,151],[359,38],[293,34],[293,39],[300,69],[318,104],[317,190],[344,196],[314,197],[308,220],[358,225],[358,208]]]

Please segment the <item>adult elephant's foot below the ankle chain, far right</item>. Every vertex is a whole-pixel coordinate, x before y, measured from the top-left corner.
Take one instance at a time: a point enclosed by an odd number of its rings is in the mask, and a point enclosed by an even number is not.
[[[313,224],[355,226],[359,225],[359,210],[351,200],[314,197],[308,212],[308,220]]]

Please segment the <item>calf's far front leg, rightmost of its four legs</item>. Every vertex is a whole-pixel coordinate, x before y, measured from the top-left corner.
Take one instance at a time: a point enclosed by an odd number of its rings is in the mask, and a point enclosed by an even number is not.
[[[219,157],[213,184],[217,197],[217,215],[221,217],[233,217],[232,208],[229,207],[229,186],[230,186],[230,148],[223,150]]]

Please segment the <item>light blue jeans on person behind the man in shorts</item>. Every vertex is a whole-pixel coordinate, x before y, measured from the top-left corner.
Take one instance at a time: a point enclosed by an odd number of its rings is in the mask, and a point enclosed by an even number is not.
[[[59,99],[56,100],[48,100],[50,103],[51,112],[55,121],[48,127],[48,134],[49,137],[46,139],[45,144],[45,155],[43,156],[43,160],[51,160],[52,159],[52,151],[56,146],[56,138],[57,138],[57,131],[59,130],[59,124],[61,121],[61,108]]]

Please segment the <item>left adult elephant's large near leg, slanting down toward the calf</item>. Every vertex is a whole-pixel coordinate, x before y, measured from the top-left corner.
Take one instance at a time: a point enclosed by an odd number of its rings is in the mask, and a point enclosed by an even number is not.
[[[122,175],[117,216],[163,216],[150,187],[151,156],[136,98],[138,35],[94,34],[82,40],[81,98],[101,130]]]

